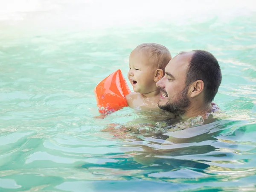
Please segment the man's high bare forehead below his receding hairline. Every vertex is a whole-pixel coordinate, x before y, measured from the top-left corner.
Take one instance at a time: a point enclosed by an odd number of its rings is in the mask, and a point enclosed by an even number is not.
[[[181,73],[185,74],[193,54],[194,52],[182,52],[181,54],[176,55],[166,66],[166,72],[172,73],[173,76],[179,76]]]

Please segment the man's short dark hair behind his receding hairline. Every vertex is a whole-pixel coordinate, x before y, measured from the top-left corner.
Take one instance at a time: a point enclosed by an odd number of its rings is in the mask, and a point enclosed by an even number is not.
[[[197,80],[204,81],[204,102],[212,102],[221,84],[221,69],[217,59],[207,51],[193,50],[186,72],[186,85]]]

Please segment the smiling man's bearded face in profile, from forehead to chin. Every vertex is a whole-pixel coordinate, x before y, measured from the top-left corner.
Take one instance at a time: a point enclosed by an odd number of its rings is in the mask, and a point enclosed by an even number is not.
[[[186,86],[186,70],[193,52],[185,52],[171,59],[165,69],[165,76],[157,81],[157,87],[161,88],[162,96],[158,107],[183,115],[190,105],[188,89]]]

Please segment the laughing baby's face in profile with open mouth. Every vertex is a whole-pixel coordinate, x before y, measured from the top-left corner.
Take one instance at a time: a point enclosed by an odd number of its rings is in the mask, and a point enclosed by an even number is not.
[[[157,89],[154,82],[154,68],[142,52],[133,51],[129,58],[128,79],[134,92],[150,93]]]

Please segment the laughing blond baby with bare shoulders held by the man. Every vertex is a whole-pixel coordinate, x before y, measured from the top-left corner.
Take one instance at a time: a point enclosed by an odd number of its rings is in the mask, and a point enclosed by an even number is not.
[[[164,69],[172,59],[169,50],[160,44],[140,44],[130,54],[128,79],[133,93],[126,96],[131,108],[160,110],[160,88],[156,82],[164,76]]]

